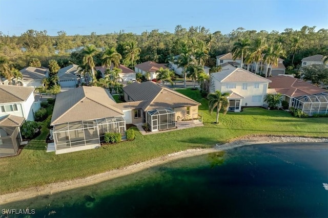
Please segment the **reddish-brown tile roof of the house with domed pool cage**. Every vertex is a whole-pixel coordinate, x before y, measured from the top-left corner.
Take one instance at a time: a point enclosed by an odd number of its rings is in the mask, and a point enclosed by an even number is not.
[[[276,92],[289,97],[313,95],[325,92],[325,90],[320,89],[317,86],[290,76],[274,76],[270,79],[272,81],[269,83],[271,89],[275,89]]]

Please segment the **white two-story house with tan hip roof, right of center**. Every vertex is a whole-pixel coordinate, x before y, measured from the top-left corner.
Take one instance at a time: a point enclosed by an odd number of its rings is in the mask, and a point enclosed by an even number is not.
[[[229,92],[229,111],[239,112],[241,106],[262,106],[271,80],[241,68],[210,74],[210,92]]]

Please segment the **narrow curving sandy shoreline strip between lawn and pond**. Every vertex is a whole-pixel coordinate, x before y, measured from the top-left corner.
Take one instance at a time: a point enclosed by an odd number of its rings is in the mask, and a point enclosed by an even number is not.
[[[48,185],[40,187],[32,187],[23,189],[17,192],[2,194],[0,195],[0,205],[25,200],[29,198],[36,197],[38,195],[53,194],[60,191],[65,191],[74,188],[80,188],[84,186],[89,186],[104,182],[107,180],[115,179],[118,177],[126,176],[131,173],[135,173],[152,166],[160,165],[170,161],[178,160],[181,158],[188,158],[198,155],[209,154],[211,152],[216,152],[219,150],[227,150],[234,147],[240,147],[250,144],[266,144],[266,143],[277,143],[277,142],[327,142],[327,138],[304,138],[304,137],[274,137],[274,136],[250,136],[243,137],[240,139],[232,140],[230,143],[216,145],[213,148],[206,149],[188,149],[184,151],[179,151],[174,154],[169,154],[159,158],[155,158],[146,162],[137,163],[134,165],[127,166],[121,169],[115,169],[104,173],[99,173],[87,178],[75,179],[66,182],[51,183]]]

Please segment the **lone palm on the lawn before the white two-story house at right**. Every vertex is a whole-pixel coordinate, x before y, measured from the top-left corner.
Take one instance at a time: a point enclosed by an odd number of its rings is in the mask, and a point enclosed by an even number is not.
[[[214,93],[209,93],[207,98],[209,99],[209,111],[212,114],[214,108],[216,107],[216,123],[219,123],[219,112],[223,107],[223,114],[227,114],[229,108],[228,96],[230,93],[221,93],[220,91],[215,91]]]

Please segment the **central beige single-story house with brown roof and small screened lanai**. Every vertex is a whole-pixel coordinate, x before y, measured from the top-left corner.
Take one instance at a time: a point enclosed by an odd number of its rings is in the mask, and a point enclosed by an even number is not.
[[[175,128],[176,121],[198,118],[199,102],[159,83],[134,82],[123,91],[130,104],[132,123],[147,123],[151,131]]]

